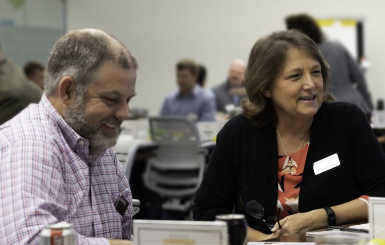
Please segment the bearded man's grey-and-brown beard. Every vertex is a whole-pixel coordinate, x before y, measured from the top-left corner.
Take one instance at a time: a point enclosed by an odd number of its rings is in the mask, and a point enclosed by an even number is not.
[[[111,116],[99,122],[91,123],[87,121],[85,107],[85,97],[77,96],[75,103],[64,111],[64,120],[76,133],[89,141],[90,155],[104,153],[107,148],[115,146],[119,131],[106,132],[101,128],[102,124],[117,125],[119,128],[123,121]]]

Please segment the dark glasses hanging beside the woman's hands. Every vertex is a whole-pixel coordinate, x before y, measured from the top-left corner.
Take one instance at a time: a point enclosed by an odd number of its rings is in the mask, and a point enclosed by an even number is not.
[[[248,187],[247,187],[248,188]],[[246,188],[246,190],[247,190]],[[246,191],[245,190],[245,191]],[[244,192],[243,192],[244,193]],[[243,195],[243,194],[242,194]],[[260,204],[259,202],[257,202],[256,200],[251,200],[251,201],[248,201],[246,202],[245,204],[243,204],[242,202],[242,196],[241,196],[241,204],[244,208],[244,210],[246,210],[246,212],[248,214],[250,214],[251,216],[253,216],[254,218],[257,218],[259,220],[262,220],[267,227],[269,227],[269,229],[273,229],[273,227],[275,226],[275,224],[278,222],[278,226],[279,226],[279,229],[282,228],[281,224],[280,224],[280,212],[281,212],[281,208],[278,209],[278,215],[277,216],[270,216],[269,218],[267,219],[263,219],[263,214],[265,213],[265,209],[264,207],[262,206],[262,204]]]

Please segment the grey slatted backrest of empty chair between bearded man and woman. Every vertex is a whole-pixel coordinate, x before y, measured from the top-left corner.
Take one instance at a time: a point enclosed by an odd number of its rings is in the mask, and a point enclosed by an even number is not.
[[[161,196],[194,194],[203,177],[204,154],[195,124],[182,117],[149,119],[159,147],[147,161],[144,185]]]

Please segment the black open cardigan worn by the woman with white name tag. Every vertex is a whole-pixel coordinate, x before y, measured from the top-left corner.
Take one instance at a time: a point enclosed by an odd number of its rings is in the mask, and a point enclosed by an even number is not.
[[[340,165],[315,175],[313,163],[335,153]],[[264,219],[277,215],[275,127],[257,129],[243,114],[230,120],[218,133],[196,192],[194,220],[215,220],[217,214],[231,213],[235,208],[236,213],[246,216],[250,227],[270,233],[262,221],[244,211],[241,195],[243,203],[255,199],[264,206]],[[385,196],[384,151],[361,109],[343,102],[323,103],[311,125],[299,210],[330,207],[362,195]]]

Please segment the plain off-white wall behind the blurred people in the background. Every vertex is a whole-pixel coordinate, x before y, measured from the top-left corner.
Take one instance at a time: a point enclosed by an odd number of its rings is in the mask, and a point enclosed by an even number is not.
[[[221,83],[236,58],[247,60],[254,42],[285,28],[284,17],[364,17],[367,72],[373,100],[385,98],[385,1],[381,0],[68,0],[68,29],[98,28],[137,57],[132,106],[159,112],[176,89],[175,63],[192,57],[208,69],[207,88]]]

